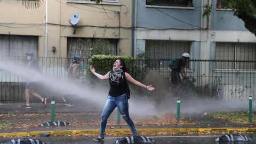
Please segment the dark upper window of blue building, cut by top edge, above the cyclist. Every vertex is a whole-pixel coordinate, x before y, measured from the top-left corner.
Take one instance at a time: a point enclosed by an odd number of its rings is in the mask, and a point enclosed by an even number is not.
[[[146,5],[192,7],[192,0],[147,0]]]

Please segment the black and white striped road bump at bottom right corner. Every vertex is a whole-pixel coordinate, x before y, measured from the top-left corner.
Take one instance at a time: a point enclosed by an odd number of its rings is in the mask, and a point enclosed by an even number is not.
[[[241,134],[226,134],[222,135],[219,138],[215,139],[215,141],[251,141],[251,138],[247,138],[245,135]]]

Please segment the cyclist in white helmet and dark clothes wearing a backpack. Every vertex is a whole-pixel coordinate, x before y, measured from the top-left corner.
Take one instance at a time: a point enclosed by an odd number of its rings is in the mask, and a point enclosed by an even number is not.
[[[181,87],[181,78],[180,78],[180,74],[183,76],[183,78],[189,78],[186,74],[185,71],[185,66],[187,64],[187,62],[190,59],[190,55],[189,53],[183,53],[182,57],[180,59],[177,59],[177,61],[175,61],[176,63],[170,63],[169,62],[169,66],[172,69],[171,71],[171,84],[177,85],[174,93],[177,93],[179,88]],[[175,96],[175,95],[174,95]]]

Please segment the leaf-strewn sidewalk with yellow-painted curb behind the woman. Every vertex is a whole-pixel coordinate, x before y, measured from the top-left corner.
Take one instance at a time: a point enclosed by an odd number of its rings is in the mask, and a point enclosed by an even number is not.
[[[0,137],[39,136],[40,133],[50,135],[98,135],[100,129],[101,108],[90,105],[66,106],[65,103],[55,104],[54,121],[69,122],[71,125],[59,127],[41,127],[42,123],[51,121],[51,105],[47,108],[42,103],[31,103],[31,109],[21,109],[23,103],[0,103]],[[6,116],[7,114],[7,116]],[[256,124],[238,124],[204,114],[182,114],[182,123],[165,124],[152,121],[152,117],[132,115],[131,118],[140,135],[177,134],[177,133],[237,133],[256,132]],[[173,116],[175,117],[175,116]],[[166,122],[166,121],[164,121]],[[117,125],[115,112],[108,118],[106,135],[129,135],[130,129],[121,117]]]

